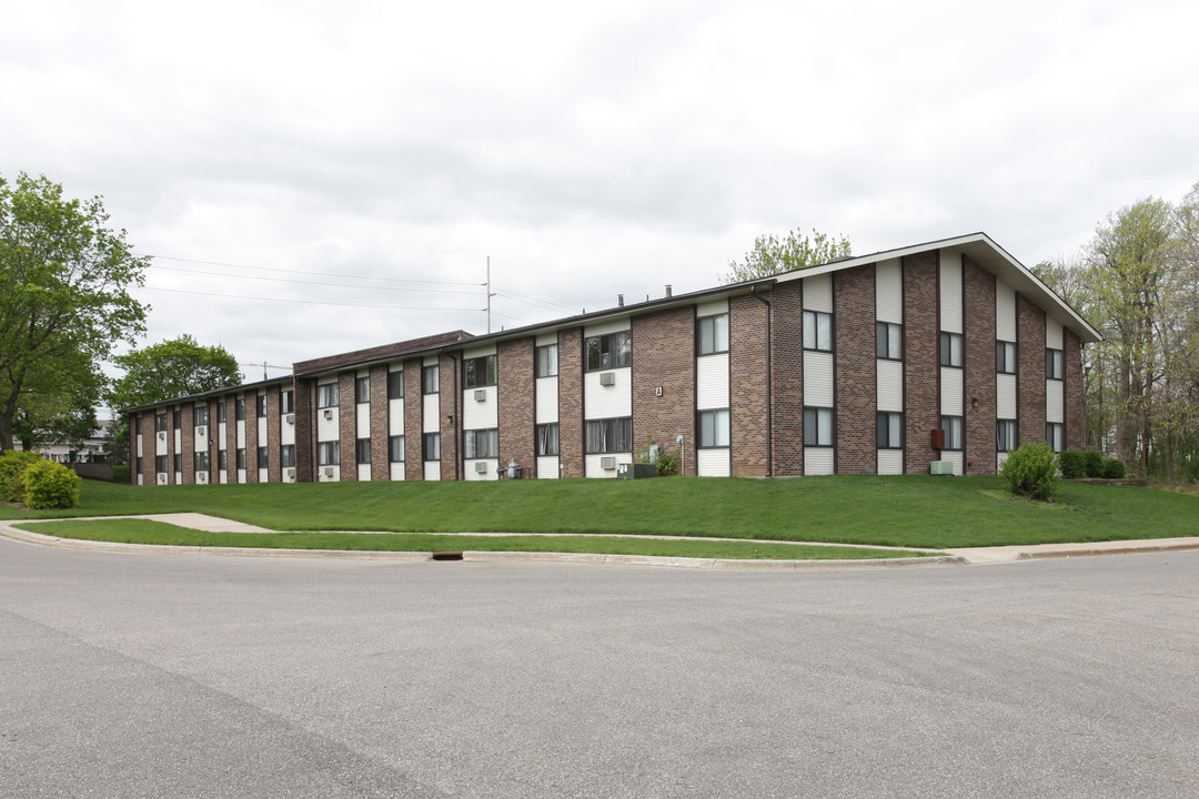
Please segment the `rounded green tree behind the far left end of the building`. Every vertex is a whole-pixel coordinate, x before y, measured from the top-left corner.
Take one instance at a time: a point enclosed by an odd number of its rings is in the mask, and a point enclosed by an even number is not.
[[[187,397],[242,382],[237,359],[219,344],[203,346],[191,335],[151,344],[113,363],[125,370],[113,381],[108,402],[114,408],[150,405],[175,397]],[[115,441],[128,441],[128,419],[119,418]]]

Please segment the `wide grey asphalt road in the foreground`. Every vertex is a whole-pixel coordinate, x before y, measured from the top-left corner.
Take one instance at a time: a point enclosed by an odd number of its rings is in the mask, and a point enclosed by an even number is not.
[[[0,539],[0,797],[1199,795],[1199,552],[835,573]]]

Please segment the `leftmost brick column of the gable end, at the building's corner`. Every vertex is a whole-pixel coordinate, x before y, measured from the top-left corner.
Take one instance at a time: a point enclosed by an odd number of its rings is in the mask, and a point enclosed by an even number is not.
[[[769,299],[771,473],[797,477],[803,474],[803,284],[777,285]]]

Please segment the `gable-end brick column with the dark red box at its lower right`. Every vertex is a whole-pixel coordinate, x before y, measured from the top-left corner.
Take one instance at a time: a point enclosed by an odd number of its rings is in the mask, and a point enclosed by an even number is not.
[[[941,426],[941,321],[938,253],[920,253],[903,261],[904,414],[906,470],[928,474],[940,456],[929,431]]]

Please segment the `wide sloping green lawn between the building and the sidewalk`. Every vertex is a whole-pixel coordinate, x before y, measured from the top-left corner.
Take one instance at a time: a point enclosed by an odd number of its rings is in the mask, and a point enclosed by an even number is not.
[[[72,512],[0,515],[197,512],[279,531],[643,533],[930,550],[1199,535],[1195,496],[1077,483],[1058,494],[1047,506],[1011,498],[999,478],[930,476],[145,488],[85,480]]]

